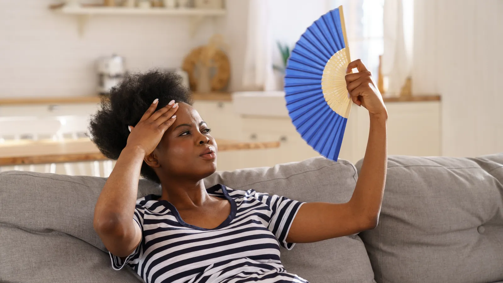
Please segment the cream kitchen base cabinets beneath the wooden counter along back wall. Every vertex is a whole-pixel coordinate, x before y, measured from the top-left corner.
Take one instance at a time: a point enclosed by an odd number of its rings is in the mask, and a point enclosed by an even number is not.
[[[385,102],[388,109],[388,155],[441,156],[441,101]],[[217,139],[243,142],[280,141],[266,150],[218,153],[218,170],[274,166],[317,157],[291,122],[282,92],[233,95],[233,101],[196,100],[194,108]],[[90,117],[97,103],[0,105],[0,117]],[[353,105],[339,155],[356,163],[365,156],[370,126],[367,109]]]

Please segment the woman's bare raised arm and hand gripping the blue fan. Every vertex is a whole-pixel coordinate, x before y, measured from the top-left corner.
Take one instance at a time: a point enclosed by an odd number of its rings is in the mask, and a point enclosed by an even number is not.
[[[367,150],[355,191],[347,203],[305,203],[290,227],[287,242],[311,243],[373,229],[377,226],[384,194],[387,168],[388,113],[370,72],[360,59],[348,65],[346,75],[351,99],[369,111],[370,130]]]

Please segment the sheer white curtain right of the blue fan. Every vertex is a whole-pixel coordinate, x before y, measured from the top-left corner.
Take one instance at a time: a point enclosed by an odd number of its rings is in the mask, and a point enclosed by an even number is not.
[[[382,73],[387,93],[399,94],[412,68],[413,0],[384,1]],[[412,82],[413,83],[413,82]]]

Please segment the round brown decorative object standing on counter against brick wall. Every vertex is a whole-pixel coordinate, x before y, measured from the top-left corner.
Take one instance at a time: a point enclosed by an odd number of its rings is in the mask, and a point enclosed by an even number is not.
[[[201,73],[198,68],[206,68],[202,72],[210,74],[211,91],[220,91],[227,86],[230,63],[229,58],[220,48],[223,45],[222,41],[221,35],[214,35],[208,45],[192,49],[185,57],[182,69],[189,74],[189,85],[192,91],[198,90],[198,78]]]

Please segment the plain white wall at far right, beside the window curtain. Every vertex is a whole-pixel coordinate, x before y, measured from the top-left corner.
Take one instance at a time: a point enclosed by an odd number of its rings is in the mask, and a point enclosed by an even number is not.
[[[446,156],[503,152],[503,1],[415,1],[415,93],[442,95]]]

